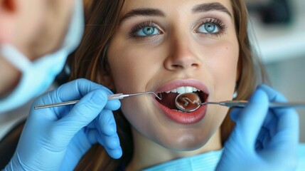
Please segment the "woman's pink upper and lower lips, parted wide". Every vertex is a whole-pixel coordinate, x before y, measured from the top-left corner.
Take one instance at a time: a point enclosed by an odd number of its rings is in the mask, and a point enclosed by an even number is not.
[[[164,84],[164,86],[161,86],[156,90],[156,93],[164,92],[168,90],[172,90],[181,86],[192,86],[197,88],[198,90],[202,90],[204,93],[208,94],[208,88],[201,83],[200,81],[196,80],[176,80],[171,81],[169,83]],[[173,120],[176,123],[181,124],[193,124],[198,123],[200,120],[202,120],[205,116],[207,107],[206,105],[201,105],[200,108],[197,110],[191,112],[191,113],[181,113],[175,110],[171,110],[170,108],[167,108],[166,106],[159,103],[157,100],[155,100],[157,106],[161,109],[161,111],[166,115],[168,118]]]

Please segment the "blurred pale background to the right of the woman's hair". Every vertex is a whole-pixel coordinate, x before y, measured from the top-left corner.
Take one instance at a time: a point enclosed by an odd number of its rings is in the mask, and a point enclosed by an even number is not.
[[[287,2],[291,21],[266,24],[255,10],[250,10],[251,25],[255,32],[257,52],[272,86],[290,101],[305,102],[305,1]],[[305,142],[305,108],[297,111],[300,117],[300,141]]]

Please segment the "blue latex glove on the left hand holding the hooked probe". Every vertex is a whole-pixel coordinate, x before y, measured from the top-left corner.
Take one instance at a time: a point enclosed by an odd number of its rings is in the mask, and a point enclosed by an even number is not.
[[[73,170],[92,144],[113,158],[122,156],[112,110],[119,100],[97,83],[79,79],[41,95],[33,105],[80,99],[75,105],[31,110],[17,150],[6,170]]]

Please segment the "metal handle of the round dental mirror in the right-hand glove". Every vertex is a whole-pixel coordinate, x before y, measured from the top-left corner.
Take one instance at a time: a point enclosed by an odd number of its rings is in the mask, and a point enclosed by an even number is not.
[[[228,108],[244,108],[247,105],[247,100],[227,100],[221,102],[205,102],[201,103],[201,105],[224,105]],[[305,108],[305,103],[284,103],[284,102],[270,102],[269,108]]]

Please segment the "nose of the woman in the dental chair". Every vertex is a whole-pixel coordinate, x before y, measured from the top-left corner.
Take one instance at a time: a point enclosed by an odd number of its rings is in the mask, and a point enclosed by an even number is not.
[[[200,58],[196,56],[195,49],[191,46],[191,41],[186,36],[176,36],[171,40],[168,56],[164,61],[164,66],[170,71],[183,69],[197,69],[201,65]]]

